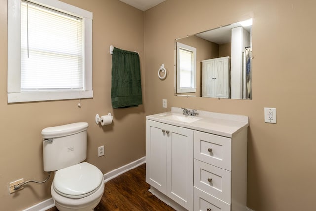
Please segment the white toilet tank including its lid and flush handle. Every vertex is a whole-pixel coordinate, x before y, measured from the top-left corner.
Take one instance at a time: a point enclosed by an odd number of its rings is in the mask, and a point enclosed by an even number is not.
[[[63,169],[86,159],[88,126],[88,123],[79,122],[41,131],[44,171]]]

